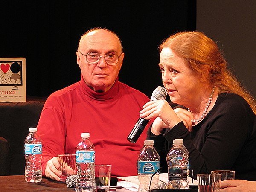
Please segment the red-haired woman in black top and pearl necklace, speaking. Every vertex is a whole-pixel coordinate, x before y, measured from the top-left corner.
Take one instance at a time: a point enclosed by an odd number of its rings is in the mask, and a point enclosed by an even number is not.
[[[235,170],[237,179],[256,180],[256,105],[227,69],[217,44],[202,32],[179,32],[160,45],[163,85],[173,103],[150,101],[140,117],[156,117],[148,139],[160,154],[161,172],[175,138],[183,138],[190,170]],[[192,171],[190,171],[192,176]]]

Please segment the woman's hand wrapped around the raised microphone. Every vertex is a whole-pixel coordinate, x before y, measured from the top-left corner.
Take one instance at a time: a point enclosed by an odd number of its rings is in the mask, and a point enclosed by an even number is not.
[[[180,118],[173,111],[166,100],[147,102],[140,111],[140,117],[145,119],[156,118],[152,125],[152,133],[159,135],[164,128],[172,128],[181,122]]]

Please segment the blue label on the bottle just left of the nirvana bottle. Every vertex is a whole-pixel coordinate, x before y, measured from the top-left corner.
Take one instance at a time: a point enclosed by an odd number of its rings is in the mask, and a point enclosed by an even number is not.
[[[138,161],[138,173],[153,174],[159,169],[159,161]]]

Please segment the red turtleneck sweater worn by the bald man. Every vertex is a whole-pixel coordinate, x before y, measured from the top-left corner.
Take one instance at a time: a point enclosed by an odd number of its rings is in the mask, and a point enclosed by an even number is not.
[[[147,130],[135,144],[128,142],[127,137],[148,101],[147,96],[118,78],[104,93],[91,90],[83,78],[52,93],[37,126],[43,144],[43,175],[52,157],[75,153],[83,132],[90,133],[95,145],[95,164],[111,164],[112,176],[137,175],[136,162]]]

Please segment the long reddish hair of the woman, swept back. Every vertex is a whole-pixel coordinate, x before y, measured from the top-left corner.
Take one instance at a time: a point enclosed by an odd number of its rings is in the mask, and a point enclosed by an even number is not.
[[[164,47],[169,47],[177,56],[183,58],[199,76],[205,76],[206,69],[209,69],[207,80],[211,87],[218,87],[219,93],[236,93],[242,96],[256,114],[255,100],[227,69],[227,61],[218,45],[204,33],[178,32],[163,41],[159,47],[160,52]]]

